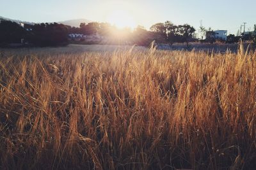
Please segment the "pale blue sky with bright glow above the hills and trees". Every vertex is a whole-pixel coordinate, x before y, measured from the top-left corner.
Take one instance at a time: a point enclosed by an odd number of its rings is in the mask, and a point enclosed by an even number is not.
[[[236,34],[243,22],[245,31],[256,24],[255,0],[0,0],[0,16],[28,22],[60,22],[85,18],[109,22],[124,11],[133,24],[146,29],[157,22],[170,20],[173,24],[202,25],[214,30],[225,29]],[[120,19],[119,19],[120,20]],[[124,22],[124,21],[123,21]],[[131,22],[131,21],[130,21]]]

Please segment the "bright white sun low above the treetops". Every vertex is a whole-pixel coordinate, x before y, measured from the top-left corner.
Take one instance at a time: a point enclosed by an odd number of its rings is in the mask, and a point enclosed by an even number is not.
[[[115,25],[119,29],[123,29],[125,27],[130,27],[134,29],[136,24],[134,22],[134,18],[127,11],[124,10],[116,10],[113,11],[107,18],[107,22]]]

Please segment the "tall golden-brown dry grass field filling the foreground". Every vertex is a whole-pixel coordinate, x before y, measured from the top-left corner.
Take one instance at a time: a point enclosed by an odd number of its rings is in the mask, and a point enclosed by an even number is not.
[[[256,167],[256,53],[60,51],[0,53],[0,169]]]

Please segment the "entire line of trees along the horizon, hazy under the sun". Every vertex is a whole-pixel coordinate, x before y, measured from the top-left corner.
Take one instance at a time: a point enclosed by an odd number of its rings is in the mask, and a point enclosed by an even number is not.
[[[20,24],[8,20],[0,22],[0,46],[10,43],[20,43],[22,40],[26,44],[33,46],[60,46],[69,42],[68,34],[97,34],[106,39],[106,43],[111,44],[136,44],[147,46],[152,41],[165,43],[170,46],[173,43],[186,43],[198,41],[196,39],[195,28],[189,24],[175,25],[170,21],[157,23],[150,27],[148,31],[142,26],[136,27],[133,31],[129,28],[118,29],[115,25],[108,23],[91,22],[81,23],[79,27],[57,23],[42,23],[35,25]],[[254,37],[254,39],[256,39]],[[205,39],[207,40],[207,39]],[[230,35],[227,42],[233,43],[237,36]],[[210,42],[210,41],[209,41]]]

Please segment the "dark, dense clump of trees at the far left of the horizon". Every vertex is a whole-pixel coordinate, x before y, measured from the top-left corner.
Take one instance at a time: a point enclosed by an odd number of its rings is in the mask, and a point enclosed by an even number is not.
[[[29,43],[33,46],[58,46],[68,44],[68,27],[63,24],[24,24],[2,20],[0,22],[0,46],[10,43]]]

